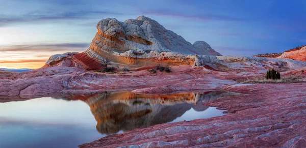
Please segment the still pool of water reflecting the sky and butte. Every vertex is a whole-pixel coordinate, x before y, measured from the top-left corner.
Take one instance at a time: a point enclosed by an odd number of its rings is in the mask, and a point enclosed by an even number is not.
[[[104,92],[0,103],[0,147],[78,147],[135,128],[220,116],[202,104],[230,95]]]

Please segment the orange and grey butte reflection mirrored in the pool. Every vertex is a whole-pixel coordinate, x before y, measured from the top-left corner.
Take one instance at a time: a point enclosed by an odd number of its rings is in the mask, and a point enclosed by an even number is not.
[[[120,130],[130,131],[168,123],[191,108],[205,111],[209,108],[203,105],[205,102],[235,95],[237,94],[225,91],[167,95],[144,95],[121,91],[73,96],[66,99],[80,99],[86,102],[97,121],[97,131],[102,134],[113,134]]]

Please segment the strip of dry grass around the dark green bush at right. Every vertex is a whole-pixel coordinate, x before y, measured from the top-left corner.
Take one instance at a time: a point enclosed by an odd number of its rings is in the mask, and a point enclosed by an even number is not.
[[[278,80],[266,79],[265,77],[254,77],[251,79],[240,80],[240,83],[249,84],[249,83],[305,83],[306,81],[300,80],[304,78],[302,76],[297,77],[283,77]]]

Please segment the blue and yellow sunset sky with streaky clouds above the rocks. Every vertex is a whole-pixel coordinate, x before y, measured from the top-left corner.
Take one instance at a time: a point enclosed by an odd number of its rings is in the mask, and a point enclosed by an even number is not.
[[[306,1],[0,0],[0,68],[39,68],[48,57],[85,51],[104,18],[155,19],[190,43],[223,55],[283,52],[306,44]]]

